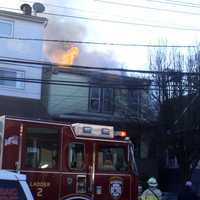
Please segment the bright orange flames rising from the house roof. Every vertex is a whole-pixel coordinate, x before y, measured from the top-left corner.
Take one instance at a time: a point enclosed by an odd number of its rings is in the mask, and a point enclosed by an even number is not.
[[[52,62],[59,63],[60,65],[72,65],[78,55],[78,47],[72,46],[67,50],[55,49],[50,56],[50,60]]]

